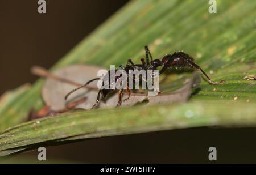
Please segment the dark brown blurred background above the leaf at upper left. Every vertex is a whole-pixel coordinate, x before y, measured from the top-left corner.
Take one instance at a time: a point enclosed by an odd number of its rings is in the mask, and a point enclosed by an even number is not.
[[[0,95],[38,77],[32,65],[47,69],[85,36],[125,5],[127,0],[0,0]]]

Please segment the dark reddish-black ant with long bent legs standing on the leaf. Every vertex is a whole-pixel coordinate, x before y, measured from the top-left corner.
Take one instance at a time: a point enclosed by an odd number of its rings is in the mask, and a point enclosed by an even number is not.
[[[194,70],[200,70],[201,73],[205,76],[207,82],[209,82],[210,84],[222,84],[225,80],[221,80],[220,82],[213,82],[209,76],[203,71],[203,69],[201,69],[200,66],[196,65],[195,62],[193,62],[193,58],[191,56],[189,56],[189,54],[184,53],[184,52],[175,52],[173,54],[167,54],[166,56],[164,56],[162,58],[162,61],[160,59],[153,59],[152,55],[150,53],[150,50],[148,49],[148,46],[144,47],[145,49],[145,53],[146,53],[146,62],[144,61],[144,58],[141,59],[141,64],[134,64],[133,61],[131,61],[131,59],[128,59],[127,61],[127,65],[126,66],[119,66],[120,69],[123,69],[127,72],[129,72],[129,70],[156,70],[159,66],[163,66],[162,69],[159,72],[159,75],[162,74],[164,71],[166,71],[167,68],[169,67],[179,67],[179,68],[183,68],[183,67],[188,67],[189,69],[194,69]],[[116,72],[117,70],[115,70]],[[110,71],[108,72],[108,74],[106,74],[104,76],[104,78],[107,78],[106,76],[109,76],[109,82],[110,81]],[[120,78],[120,76],[115,76],[115,80],[114,82],[117,82],[117,80]],[[71,95],[71,93],[77,91],[78,89],[87,86],[89,83],[93,82],[94,80],[100,80],[100,78],[94,78],[92,80],[89,80],[86,84],[84,84],[83,86],[80,86],[76,89],[73,89],[71,92],[69,92],[66,96],[65,96],[65,100],[68,99],[68,96]],[[104,82],[102,82],[102,86],[104,86]],[[92,109],[100,102],[101,99],[101,95],[104,97],[104,99],[106,99],[106,97],[109,95],[110,92],[115,91],[115,89],[110,89],[111,84],[109,83],[109,88],[108,89],[100,89],[98,91],[98,95],[97,95],[97,100],[96,103],[92,106]],[[121,99],[122,99],[122,93],[123,93],[124,89],[120,89],[118,92],[118,105],[121,105]],[[129,100],[130,95],[131,95],[131,91],[128,88],[128,82],[127,82],[127,88],[125,89],[128,93],[128,97],[126,100]]]

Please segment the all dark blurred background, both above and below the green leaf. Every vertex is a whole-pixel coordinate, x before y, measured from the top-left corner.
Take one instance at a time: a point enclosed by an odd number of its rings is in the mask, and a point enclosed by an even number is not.
[[[127,1],[48,0],[47,14],[38,14],[37,2],[0,0],[0,94],[34,82],[32,65],[51,67]],[[46,163],[212,163],[211,146],[217,163],[256,163],[255,131],[196,128],[90,139],[47,147]],[[37,155],[35,150],[7,160],[39,162]]]

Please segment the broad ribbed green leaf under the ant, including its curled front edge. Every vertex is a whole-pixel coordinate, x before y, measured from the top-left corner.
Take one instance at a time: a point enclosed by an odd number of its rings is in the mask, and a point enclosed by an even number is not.
[[[200,126],[255,126],[256,85],[243,79],[255,75],[256,1],[217,1],[209,14],[208,1],[131,1],[86,37],[51,70],[72,64],[109,68],[144,57],[149,45],[155,58],[184,50],[195,57],[213,80],[203,81],[189,103],[76,111],[24,122],[29,110],[43,106],[44,80],[23,87],[0,101],[0,155],[36,144],[110,135],[143,133]],[[210,74],[212,72],[213,74]],[[166,75],[180,82],[184,74]],[[9,129],[7,129],[9,128]]]

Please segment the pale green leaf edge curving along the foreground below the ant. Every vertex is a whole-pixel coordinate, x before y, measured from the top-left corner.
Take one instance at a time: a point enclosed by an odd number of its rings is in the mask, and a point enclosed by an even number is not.
[[[119,108],[80,111],[23,123],[1,134],[0,151],[57,139],[63,142],[199,126],[245,127],[256,124],[253,104],[224,105],[214,101],[210,104],[166,104],[151,108],[150,112],[144,106],[133,107],[133,110]],[[239,110],[233,110],[235,108]],[[104,116],[99,116],[98,112],[104,113]]]

